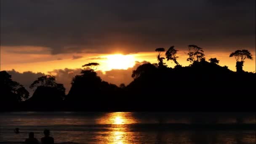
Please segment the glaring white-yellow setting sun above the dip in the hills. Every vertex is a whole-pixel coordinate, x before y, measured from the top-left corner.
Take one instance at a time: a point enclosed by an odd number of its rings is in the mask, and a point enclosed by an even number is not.
[[[113,54],[107,57],[107,67],[109,69],[128,69],[135,64],[133,55]]]

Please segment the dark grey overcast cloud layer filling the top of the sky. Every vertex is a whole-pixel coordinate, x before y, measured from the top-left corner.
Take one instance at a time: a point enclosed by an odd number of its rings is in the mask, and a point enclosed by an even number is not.
[[[59,53],[255,48],[255,0],[1,0],[1,45]]]

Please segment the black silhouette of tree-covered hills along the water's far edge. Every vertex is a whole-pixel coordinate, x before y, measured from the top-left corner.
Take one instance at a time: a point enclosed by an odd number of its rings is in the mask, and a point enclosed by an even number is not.
[[[35,93],[26,101],[16,100],[19,110],[69,110],[69,111],[254,111],[256,73],[244,72],[238,65],[237,72],[227,66],[218,65],[216,58],[205,60],[202,48],[189,45],[189,66],[182,67],[174,46],[166,51],[167,61],[173,61],[174,68],[164,63],[164,48],[157,48],[158,64],[142,64],[133,71],[133,81],[125,86],[107,83],[95,72],[98,63],[83,65],[81,75],[73,77],[72,87],[65,95],[62,84],[55,77],[39,77],[31,84]],[[243,53],[246,52],[246,53]],[[232,53],[236,60],[252,59],[249,51]],[[241,57],[241,59],[238,59]],[[3,101],[13,97],[12,81],[7,72],[2,71],[1,88]],[[6,80],[5,80],[6,79]],[[9,85],[9,86],[8,86]],[[17,95],[24,97],[24,95]],[[25,97],[27,98],[27,97]],[[14,100],[12,100],[14,101]],[[2,105],[3,106],[3,105]],[[2,110],[10,110],[2,107]]]

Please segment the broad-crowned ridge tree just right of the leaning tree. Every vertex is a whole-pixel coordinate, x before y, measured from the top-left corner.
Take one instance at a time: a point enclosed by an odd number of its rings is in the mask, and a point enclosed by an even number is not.
[[[197,45],[189,45],[189,52],[187,54],[189,55],[189,58],[187,58],[187,61],[190,61],[190,62],[195,62],[195,61],[199,62],[205,59],[203,48],[200,48]]]

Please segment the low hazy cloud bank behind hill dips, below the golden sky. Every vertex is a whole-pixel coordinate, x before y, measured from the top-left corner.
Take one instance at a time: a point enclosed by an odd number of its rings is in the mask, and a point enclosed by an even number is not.
[[[106,71],[105,74],[102,71],[96,71],[98,75],[101,77],[102,80],[107,81],[109,83],[120,85],[121,83],[124,83],[125,85],[128,85],[131,83],[133,78],[131,77],[132,71],[135,70],[139,65],[148,63],[147,61],[136,61],[136,64],[132,68],[128,68],[127,70],[124,69],[112,69],[109,71]],[[64,87],[66,88],[66,93],[69,92],[71,88],[71,80],[75,75],[80,75],[82,69],[54,69],[51,72],[48,72],[50,75],[55,75],[56,82],[64,84]],[[29,85],[31,85],[35,80],[37,80],[38,77],[41,77],[45,75],[41,72],[17,72],[14,69],[11,71],[7,71],[10,75],[12,75],[12,79],[14,81],[19,82],[20,84],[24,85],[24,87],[29,91],[30,96],[34,93],[32,89],[29,88]]]

